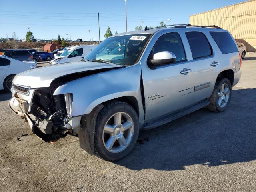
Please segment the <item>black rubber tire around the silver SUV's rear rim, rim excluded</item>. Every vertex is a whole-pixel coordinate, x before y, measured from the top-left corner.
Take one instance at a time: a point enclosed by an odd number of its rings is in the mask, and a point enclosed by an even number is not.
[[[218,103],[218,93],[220,90],[220,87],[226,84],[229,88],[229,98],[228,98],[228,102],[226,103],[226,105],[224,107],[221,107]],[[230,103],[231,100],[231,96],[232,96],[232,86],[230,81],[227,78],[218,78],[216,80],[215,86],[214,86],[214,90],[212,92],[212,95],[210,97],[210,104],[208,106],[206,106],[206,108],[208,108],[208,110],[210,111],[214,111],[214,112],[223,112],[226,110],[226,108],[228,108],[228,105]]]

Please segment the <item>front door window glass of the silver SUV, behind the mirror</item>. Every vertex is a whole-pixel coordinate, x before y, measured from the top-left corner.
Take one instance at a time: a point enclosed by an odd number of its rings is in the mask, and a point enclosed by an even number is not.
[[[161,51],[174,53],[176,56],[176,62],[186,60],[184,47],[178,33],[168,33],[158,38],[152,48],[150,57]]]

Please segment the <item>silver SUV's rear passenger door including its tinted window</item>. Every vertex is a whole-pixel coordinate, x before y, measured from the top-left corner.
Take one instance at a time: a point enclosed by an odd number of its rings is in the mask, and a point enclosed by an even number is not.
[[[193,101],[199,102],[211,96],[215,81],[216,69],[219,68],[218,55],[203,32],[189,31],[186,37],[190,46],[194,73]]]

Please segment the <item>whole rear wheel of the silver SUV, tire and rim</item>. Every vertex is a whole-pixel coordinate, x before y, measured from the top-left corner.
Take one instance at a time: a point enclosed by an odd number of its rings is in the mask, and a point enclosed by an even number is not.
[[[231,90],[232,86],[227,78],[217,79],[207,108],[215,112],[226,110],[230,102]]]

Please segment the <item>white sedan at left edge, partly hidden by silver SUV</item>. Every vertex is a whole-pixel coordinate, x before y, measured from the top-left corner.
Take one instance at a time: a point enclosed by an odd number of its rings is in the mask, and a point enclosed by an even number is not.
[[[4,55],[0,55],[0,90],[10,90],[14,76],[20,72],[30,70],[36,62],[19,61]]]

